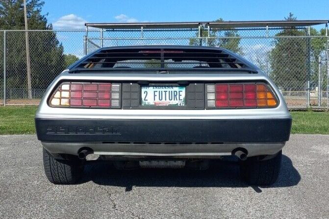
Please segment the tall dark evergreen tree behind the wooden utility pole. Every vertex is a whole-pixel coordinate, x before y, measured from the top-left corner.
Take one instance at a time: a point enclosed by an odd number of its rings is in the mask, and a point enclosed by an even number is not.
[[[28,29],[51,30],[47,15],[42,14],[44,1],[27,0]],[[0,29],[24,29],[23,0],[0,0]],[[45,89],[65,69],[63,46],[52,31],[29,32],[32,88]],[[1,34],[1,42],[3,35]],[[26,88],[25,33],[6,33],[6,69],[8,88]],[[3,63],[3,61],[0,61]]]

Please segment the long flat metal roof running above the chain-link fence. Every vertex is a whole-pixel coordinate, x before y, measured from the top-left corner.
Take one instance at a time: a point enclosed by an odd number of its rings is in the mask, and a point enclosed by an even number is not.
[[[296,21],[223,21],[223,22],[158,22],[158,23],[85,23],[86,27],[103,29],[168,29],[168,28],[239,28],[239,27],[306,27],[328,24],[329,20]]]

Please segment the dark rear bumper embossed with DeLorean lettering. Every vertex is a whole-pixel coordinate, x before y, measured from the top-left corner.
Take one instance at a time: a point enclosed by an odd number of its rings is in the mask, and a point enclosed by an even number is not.
[[[291,118],[35,119],[44,142],[285,142]]]

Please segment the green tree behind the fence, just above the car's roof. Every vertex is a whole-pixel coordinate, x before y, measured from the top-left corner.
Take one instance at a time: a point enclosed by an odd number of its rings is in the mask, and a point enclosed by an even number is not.
[[[214,21],[214,22],[223,22],[224,20],[222,18]],[[208,36],[208,30],[202,29],[201,30],[202,37]],[[225,49],[231,50],[234,53],[238,53],[240,55],[243,55],[242,49],[239,46],[240,44],[240,36],[238,34],[238,31],[234,28],[229,29],[211,29],[209,33],[209,37],[219,37],[220,38],[208,38],[208,41],[205,39],[198,39],[199,33],[196,33],[196,37],[193,39],[190,39],[190,45],[191,46],[212,46],[212,47],[223,47]],[[229,38],[228,38],[229,37]]]

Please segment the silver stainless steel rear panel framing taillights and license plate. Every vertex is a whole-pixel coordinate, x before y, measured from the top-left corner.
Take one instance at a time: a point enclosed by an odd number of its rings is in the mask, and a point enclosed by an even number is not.
[[[47,98],[54,86],[62,80],[67,81],[111,81],[111,82],[177,82],[177,81],[265,81],[268,82],[278,96],[279,104],[272,109],[204,109],[204,110],[172,110],[172,109],[73,109],[52,108]],[[48,87],[44,98],[36,112],[36,118],[85,118],[85,119],[254,119],[254,118],[290,118],[284,99],[276,85],[260,70],[259,74],[225,74],[225,73],[184,73],[184,74],[150,74],[150,73],[80,73],[70,74],[63,71]]]

